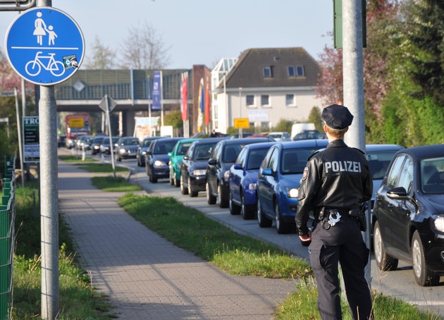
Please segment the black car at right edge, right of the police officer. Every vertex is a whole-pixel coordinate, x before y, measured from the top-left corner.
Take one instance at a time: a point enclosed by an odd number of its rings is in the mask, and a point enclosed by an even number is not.
[[[413,266],[421,286],[444,274],[444,144],[402,149],[376,192],[374,253],[379,269]]]

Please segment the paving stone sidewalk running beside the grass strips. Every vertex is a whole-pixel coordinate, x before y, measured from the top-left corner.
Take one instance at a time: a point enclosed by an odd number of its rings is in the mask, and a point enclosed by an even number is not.
[[[122,193],[97,190],[91,177],[59,161],[59,209],[82,268],[119,319],[274,319],[295,290],[294,281],[230,276],[175,247],[118,206]]]

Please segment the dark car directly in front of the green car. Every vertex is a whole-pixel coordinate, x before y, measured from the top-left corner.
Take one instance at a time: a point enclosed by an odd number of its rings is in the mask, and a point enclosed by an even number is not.
[[[205,191],[206,163],[216,143],[223,139],[212,137],[192,142],[180,164],[180,192],[183,195],[197,197],[199,191]]]

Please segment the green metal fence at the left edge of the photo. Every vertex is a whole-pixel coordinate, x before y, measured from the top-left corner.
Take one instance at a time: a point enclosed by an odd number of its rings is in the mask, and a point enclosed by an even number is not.
[[[0,204],[0,320],[11,319],[13,289],[14,221],[16,219],[16,159],[4,158]]]

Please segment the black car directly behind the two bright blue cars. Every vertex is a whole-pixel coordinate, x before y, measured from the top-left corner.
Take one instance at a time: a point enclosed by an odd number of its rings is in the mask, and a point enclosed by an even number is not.
[[[226,139],[218,142],[211,152],[211,157],[206,164],[206,202],[216,204],[219,207],[228,207],[228,178],[230,176],[230,166],[232,166],[240,150],[245,144],[269,142],[268,137]]]

